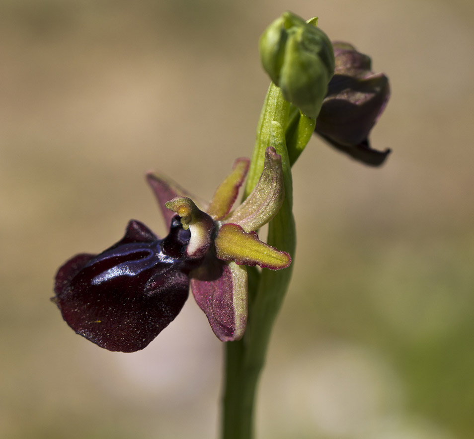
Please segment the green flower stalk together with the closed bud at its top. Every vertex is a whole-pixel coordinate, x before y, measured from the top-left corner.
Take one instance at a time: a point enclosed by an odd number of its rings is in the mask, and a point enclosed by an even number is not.
[[[285,198],[268,223],[267,243],[287,252],[293,261],[296,227],[291,167],[312,137],[327,84],[334,72],[331,44],[316,28],[316,23],[317,19],[305,22],[285,12],[260,39],[262,65],[273,82],[257,125],[244,191],[245,199],[263,171],[265,150],[274,148],[281,156]],[[258,379],[292,270],[293,264],[279,271],[252,271],[249,276],[247,329],[241,340],[227,343],[225,347],[223,439],[253,438]]]

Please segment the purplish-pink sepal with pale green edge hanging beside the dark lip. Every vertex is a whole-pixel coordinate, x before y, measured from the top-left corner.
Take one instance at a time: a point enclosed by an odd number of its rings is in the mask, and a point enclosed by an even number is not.
[[[247,270],[211,253],[191,273],[191,289],[214,334],[223,342],[238,340],[247,323]]]

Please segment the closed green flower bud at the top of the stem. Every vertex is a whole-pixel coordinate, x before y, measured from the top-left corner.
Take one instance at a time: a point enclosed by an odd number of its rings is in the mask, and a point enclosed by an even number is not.
[[[334,54],[327,35],[292,12],[284,12],[260,37],[260,58],[283,97],[316,119],[334,74]]]

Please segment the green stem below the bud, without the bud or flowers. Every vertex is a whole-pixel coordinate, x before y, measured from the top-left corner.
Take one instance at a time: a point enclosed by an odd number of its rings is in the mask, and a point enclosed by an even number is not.
[[[285,183],[283,205],[269,223],[268,244],[288,252],[294,258],[296,229],[292,214],[291,162],[285,132],[290,104],[273,83],[268,89],[257,127],[257,138],[250,164],[244,197],[253,189],[263,170],[264,153],[273,146],[282,157]],[[291,149],[298,148],[294,160],[309,140],[308,123],[289,139]],[[297,124],[298,125],[298,124]],[[298,134],[300,133],[300,134]],[[311,135],[310,135],[311,136]],[[303,140],[302,140],[303,139]],[[305,145],[303,145],[306,139]],[[291,278],[293,264],[283,270],[249,271],[249,314],[242,340],[226,344],[225,381],[223,398],[223,439],[253,438],[255,392],[264,366],[271,330],[280,310]]]

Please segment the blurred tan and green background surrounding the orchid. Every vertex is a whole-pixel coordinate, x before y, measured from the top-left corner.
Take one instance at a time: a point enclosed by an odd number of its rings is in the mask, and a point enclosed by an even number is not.
[[[222,346],[190,299],[146,350],[76,336],[57,267],[164,233],[144,172],[209,198],[249,156],[257,41],[318,15],[389,75],[366,168],[314,138],[294,167],[294,278],[259,438],[474,437],[474,6],[470,0],[2,0],[0,437],[217,438]]]

